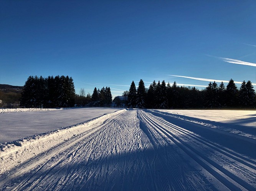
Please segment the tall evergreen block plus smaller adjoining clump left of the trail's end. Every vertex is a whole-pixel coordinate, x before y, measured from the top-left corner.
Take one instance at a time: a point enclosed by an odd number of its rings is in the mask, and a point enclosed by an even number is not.
[[[92,95],[85,96],[84,89],[75,93],[73,79],[69,76],[29,76],[21,92],[20,107],[109,107],[112,104],[110,87],[94,89]]]

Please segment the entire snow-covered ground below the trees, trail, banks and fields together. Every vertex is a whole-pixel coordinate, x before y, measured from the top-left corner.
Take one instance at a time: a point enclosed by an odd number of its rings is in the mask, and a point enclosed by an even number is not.
[[[0,190],[256,190],[256,111],[61,111],[0,114],[51,126],[0,144]]]

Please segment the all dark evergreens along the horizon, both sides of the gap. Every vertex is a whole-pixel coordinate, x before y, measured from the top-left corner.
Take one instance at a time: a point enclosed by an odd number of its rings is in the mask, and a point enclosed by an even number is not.
[[[129,108],[255,108],[256,94],[251,81],[243,81],[237,87],[230,79],[225,86],[223,82],[210,82],[205,89],[177,86],[165,83],[163,80],[145,84],[140,79],[138,87],[134,81],[127,96],[126,107]],[[84,89],[75,94],[73,79],[69,76],[29,76],[23,87],[20,98],[20,107],[54,108],[54,107],[110,107],[112,94],[110,87],[93,90],[92,95],[85,96]]]

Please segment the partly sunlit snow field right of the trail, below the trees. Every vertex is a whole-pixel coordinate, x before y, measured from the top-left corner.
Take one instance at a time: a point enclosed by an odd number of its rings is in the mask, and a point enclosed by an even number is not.
[[[240,138],[256,139],[256,111],[248,110],[151,110]],[[246,133],[246,129],[251,129]]]

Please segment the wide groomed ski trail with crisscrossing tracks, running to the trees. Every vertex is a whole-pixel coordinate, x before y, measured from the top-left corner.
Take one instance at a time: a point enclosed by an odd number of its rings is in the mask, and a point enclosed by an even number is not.
[[[127,110],[0,175],[1,190],[255,190],[256,162]]]

